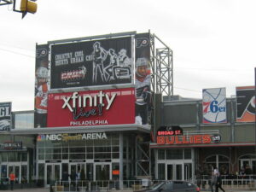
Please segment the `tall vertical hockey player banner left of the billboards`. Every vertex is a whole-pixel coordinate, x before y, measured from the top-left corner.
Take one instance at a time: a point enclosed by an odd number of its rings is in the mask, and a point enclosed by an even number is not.
[[[36,47],[35,70],[35,127],[46,127],[47,97],[49,91],[49,48],[47,44]]]

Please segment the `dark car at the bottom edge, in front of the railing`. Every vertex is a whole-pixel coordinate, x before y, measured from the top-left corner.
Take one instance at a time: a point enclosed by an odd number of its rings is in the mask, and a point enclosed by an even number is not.
[[[163,181],[152,185],[146,192],[200,192],[200,189],[187,181]]]

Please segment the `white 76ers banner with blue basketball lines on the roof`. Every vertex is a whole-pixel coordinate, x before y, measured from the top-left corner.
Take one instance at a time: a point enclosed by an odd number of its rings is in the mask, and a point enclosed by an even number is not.
[[[226,123],[226,89],[202,90],[202,113],[204,124]]]

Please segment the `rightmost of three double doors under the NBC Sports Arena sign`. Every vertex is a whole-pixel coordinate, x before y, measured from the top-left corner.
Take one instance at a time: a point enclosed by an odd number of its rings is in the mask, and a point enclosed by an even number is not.
[[[111,180],[112,179],[112,166],[111,163],[101,162],[94,164],[94,181]]]

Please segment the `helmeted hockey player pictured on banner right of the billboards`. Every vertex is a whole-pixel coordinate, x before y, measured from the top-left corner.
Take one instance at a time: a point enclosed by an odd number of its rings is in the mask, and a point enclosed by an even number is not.
[[[151,105],[150,70],[144,57],[136,61],[136,111],[135,116],[142,119],[142,125],[148,124],[148,111]]]

